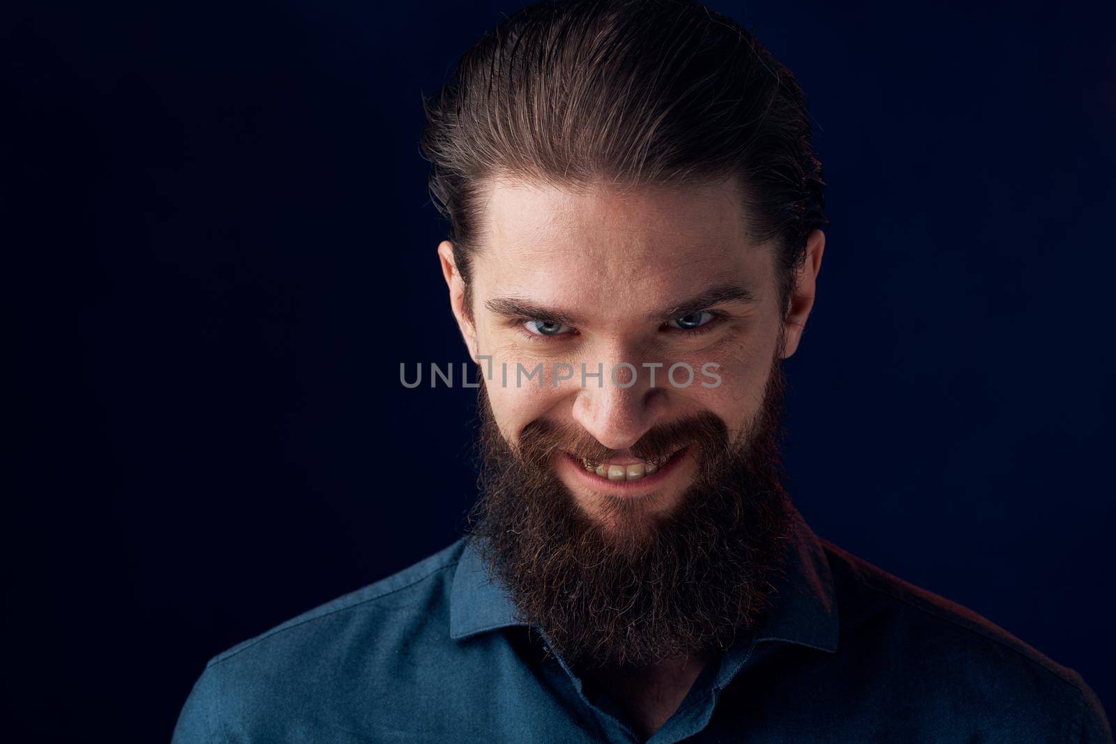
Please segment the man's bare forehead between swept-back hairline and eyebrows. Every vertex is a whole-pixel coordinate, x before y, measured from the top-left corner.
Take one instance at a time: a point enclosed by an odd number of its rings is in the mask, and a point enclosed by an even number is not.
[[[771,274],[749,242],[732,182],[689,187],[496,180],[482,200],[479,296],[517,296],[578,315],[639,315],[711,286],[757,296]]]

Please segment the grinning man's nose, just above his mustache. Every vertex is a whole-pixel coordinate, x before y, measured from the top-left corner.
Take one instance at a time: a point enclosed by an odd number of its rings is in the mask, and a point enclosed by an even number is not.
[[[618,451],[638,442],[657,423],[666,406],[665,390],[651,386],[647,369],[638,361],[627,365],[619,361],[612,366],[603,364],[599,386],[596,378],[587,379],[577,393],[573,410],[574,419],[597,442]]]

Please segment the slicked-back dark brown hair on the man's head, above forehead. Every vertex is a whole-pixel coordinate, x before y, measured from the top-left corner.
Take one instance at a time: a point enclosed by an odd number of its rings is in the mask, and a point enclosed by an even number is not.
[[[776,241],[783,299],[807,235],[828,224],[793,75],[747,30],[696,2],[528,7],[461,57],[426,102],[426,118],[430,191],[450,221],[466,288],[477,187],[498,174],[574,186],[735,175],[749,235]]]

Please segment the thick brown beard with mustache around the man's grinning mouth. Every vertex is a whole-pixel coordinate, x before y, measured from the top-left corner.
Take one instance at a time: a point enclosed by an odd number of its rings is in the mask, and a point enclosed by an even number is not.
[[[735,443],[711,412],[648,432],[633,454],[652,460],[690,445],[694,483],[665,516],[613,499],[602,519],[577,504],[554,456],[565,450],[599,462],[610,451],[541,421],[513,448],[482,387],[481,495],[470,533],[518,618],[583,668],[723,650],[751,630],[770,605],[791,523],[779,457],[783,390],[776,361],[763,406]]]

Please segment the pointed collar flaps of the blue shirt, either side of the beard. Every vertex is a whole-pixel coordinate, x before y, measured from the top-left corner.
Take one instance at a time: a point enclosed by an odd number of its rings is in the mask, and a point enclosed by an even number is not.
[[[825,550],[791,508],[791,531],[783,571],[772,580],[771,608],[757,629],[756,642],[785,641],[824,651],[837,650],[837,599]],[[468,540],[453,576],[450,636],[468,638],[510,626],[527,626],[502,584],[489,577],[473,540]]]

